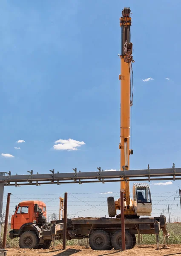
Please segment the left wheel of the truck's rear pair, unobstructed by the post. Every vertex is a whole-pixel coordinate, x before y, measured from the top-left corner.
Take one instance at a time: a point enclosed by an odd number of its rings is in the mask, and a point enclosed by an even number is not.
[[[103,230],[96,230],[89,238],[92,250],[110,250],[110,238],[108,233]]]

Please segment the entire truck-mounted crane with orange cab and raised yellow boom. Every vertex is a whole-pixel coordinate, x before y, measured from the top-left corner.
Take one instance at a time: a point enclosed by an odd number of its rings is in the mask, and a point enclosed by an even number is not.
[[[120,18],[122,29],[121,47],[121,169],[129,169],[130,138],[130,106],[132,96],[130,89],[130,73],[132,69],[132,43],[130,42],[131,17],[130,9],[124,8]],[[163,230],[164,237],[167,232],[166,218],[139,218],[140,215],[151,215],[151,195],[149,185],[135,183],[133,185],[133,199],[129,196],[129,180],[121,181],[124,190],[125,236],[126,249],[131,249],[136,244],[135,234],[159,234]],[[115,217],[116,209],[120,209],[120,200],[108,198],[109,217]],[[46,205],[41,201],[20,202],[11,217],[9,233],[11,239],[19,237],[21,248],[48,249],[51,241],[63,238],[63,220],[55,221],[49,225],[46,221]],[[75,218],[67,219],[67,240],[88,238],[93,250],[121,249],[121,218]],[[157,241],[158,244],[158,241]]]

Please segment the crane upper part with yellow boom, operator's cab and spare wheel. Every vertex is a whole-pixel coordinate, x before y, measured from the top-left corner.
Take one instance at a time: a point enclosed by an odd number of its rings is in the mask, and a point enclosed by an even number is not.
[[[133,84],[131,83],[132,42],[131,42],[131,17],[130,9],[124,8],[120,18],[121,26],[121,125],[120,125],[120,169],[129,170],[129,156],[133,150],[129,148],[130,140],[130,108],[132,106]],[[132,84],[132,92],[131,92]],[[130,199],[129,180],[121,181],[121,190],[124,191],[124,215],[125,218],[139,218],[140,215],[151,215],[152,204],[149,185],[147,183],[135,183],[133,185],[133,199]],[[116,209],[120,209],[120,199],[114,201],[109,197],[109,217],[115,217]]]

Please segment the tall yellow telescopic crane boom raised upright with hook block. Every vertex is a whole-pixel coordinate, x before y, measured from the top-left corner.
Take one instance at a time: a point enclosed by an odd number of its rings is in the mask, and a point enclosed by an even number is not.
[[[132,43],[130,41],[130,27],[131,17],[130,9],[124,8],[122,17],[120,18],[121,26],[121,125],[120,125],[120,145],[121,161],[120,169],[129,169],[129,155],[132,150],[129,149],[130,140],[130,107],[132,105],[130,75],[131,75],[131,62],[132,62]],[[130,207],[129,197],[129,181],[121,182],[121,189],[125,191],[126,209],[125,214],[134,214],[132,207]]]

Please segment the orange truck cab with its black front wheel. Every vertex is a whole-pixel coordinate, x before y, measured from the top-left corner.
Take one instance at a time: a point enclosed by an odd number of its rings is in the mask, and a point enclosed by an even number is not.
[[[46,204],[42,201],[23,201],[11,217],[11,239],[19,237],[20,248],[48,249],[51,244],[51,227],[46,221]]]

